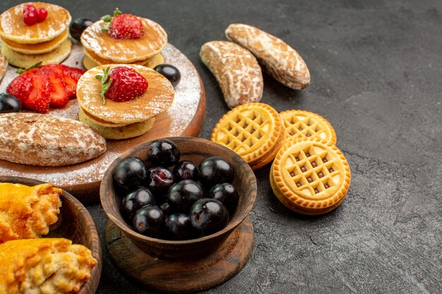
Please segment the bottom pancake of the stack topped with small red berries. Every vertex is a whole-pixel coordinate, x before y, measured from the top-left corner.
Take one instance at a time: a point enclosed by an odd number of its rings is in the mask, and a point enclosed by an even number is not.
[[[1,54],[3,54],[8,62],[18,68],[30,68],[35,63],[42,64],[61,63],[71,53],[71,40],[66,39],[56,47],[53,51],[44,54],[23,54],[9,49],[7,46],[1,46]]]

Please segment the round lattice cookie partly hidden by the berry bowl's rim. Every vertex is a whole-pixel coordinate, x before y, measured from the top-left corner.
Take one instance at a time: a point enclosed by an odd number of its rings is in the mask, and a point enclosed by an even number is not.
[[[285,140],[285,131],[275,109],[263,103],[247,103],[222,116],[211,140],[237,152],[252,169],[259,169],[273,160]]]

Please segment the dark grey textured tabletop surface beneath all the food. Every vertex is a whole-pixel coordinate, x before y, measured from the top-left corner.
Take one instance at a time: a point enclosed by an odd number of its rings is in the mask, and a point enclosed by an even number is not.
[[[109,4],[109,3],[114,4]],[[335,212],[306,219],[275,198],[269,166],[256,171],[255,247],[239,274],[207,293],[441,293],[442,1],[124,1],[152,18],[201,73],[208,138],[227,106],[198,51],[249,23],[291,44],[311,87],[265,76],[262,102],[313,111],[332,123],[352,169]],[[98,18],[117,1],[59,1]],[[104,4],[106,3],[106,4]],[[1,1],[0,10],[13,1]],[[107,221],[89,206],[101,233]],[[106,257],[97,293],[150,293]]]

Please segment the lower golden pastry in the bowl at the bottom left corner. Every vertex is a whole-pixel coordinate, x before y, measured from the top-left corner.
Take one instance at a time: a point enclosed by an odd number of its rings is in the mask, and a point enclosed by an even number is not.
[[[0,245],[0,294],[76,293],[97,265],[90,250],[64,238]]]

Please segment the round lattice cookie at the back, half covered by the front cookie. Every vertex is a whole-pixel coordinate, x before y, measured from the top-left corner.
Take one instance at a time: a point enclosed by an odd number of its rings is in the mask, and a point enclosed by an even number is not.
[[[327,143],[336,144],[335,130],[322,116],[303,110],[282,111],[280,116],[288,136],[318,137]]]

